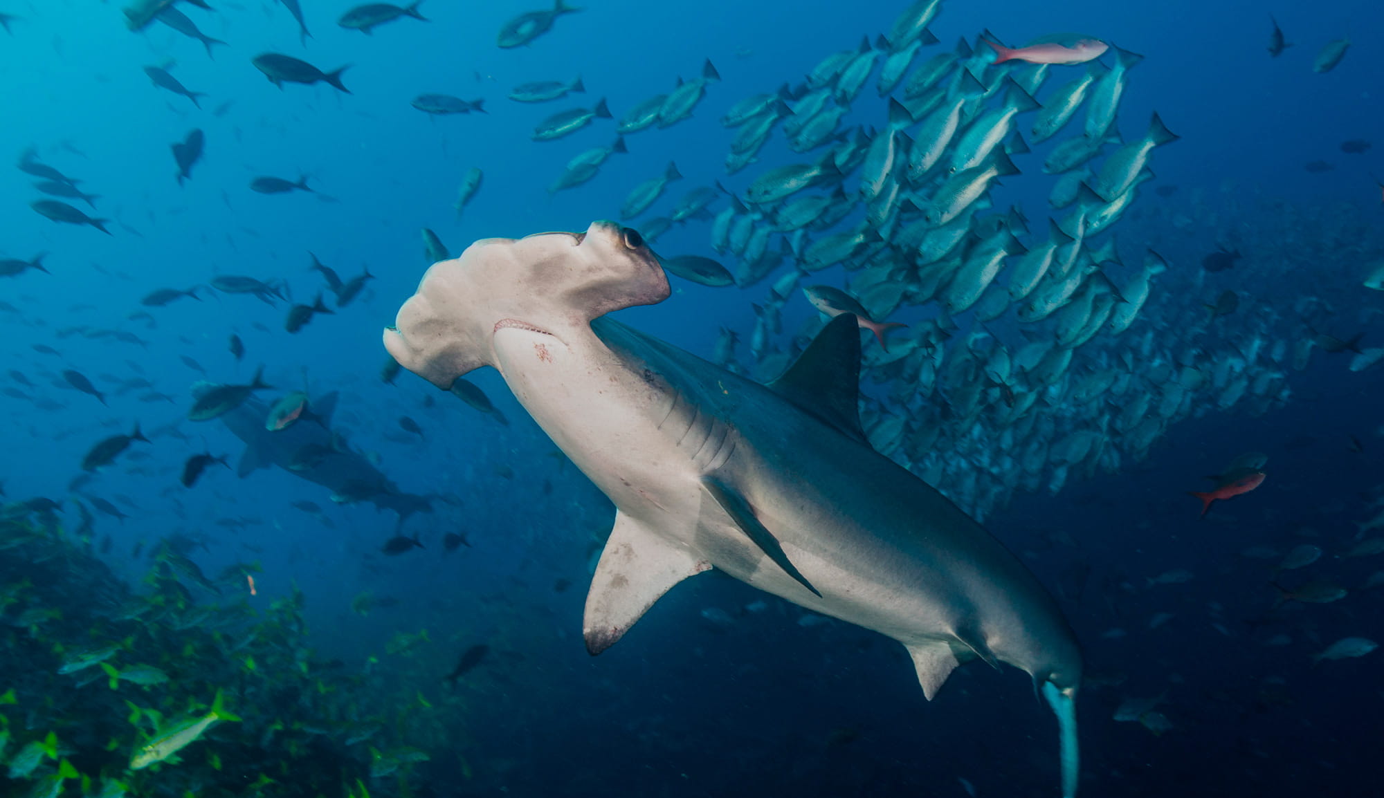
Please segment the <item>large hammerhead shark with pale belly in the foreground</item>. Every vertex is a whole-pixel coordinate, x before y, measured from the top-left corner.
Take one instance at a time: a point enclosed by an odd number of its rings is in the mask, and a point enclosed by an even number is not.
[[[1073,798],[1075,635],[1017,557],[871,448],[855,318],[760,384],[606,317],[668,293],[639,234],[609,221],[482,239],[428,270],[385,347],[441,389],[497,368],[614,503],[583,621],[592,654],[673,585],[720,568],[898,640],[927,698],[970,660],[1028,672],[1057,716]]]

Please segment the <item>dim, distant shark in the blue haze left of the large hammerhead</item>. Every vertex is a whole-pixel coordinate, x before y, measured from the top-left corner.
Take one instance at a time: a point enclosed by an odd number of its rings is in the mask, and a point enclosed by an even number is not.
[[[199,386],[205,390],[205,386]],[[430,512],[430,498],[401,492],[364,455],[353,451],[329,429],[336,409],[336,393],[311,404],[314,420],[271,432],[264,419],[268,405],[246,400],[226,412],[220,420],[235,437],[245,441],[237,474],[245,477],[256,469],[278,466],[285,472],[332,491],[338,503],[368,502],[382,510],[399,513],[400,524],[410,514]]]

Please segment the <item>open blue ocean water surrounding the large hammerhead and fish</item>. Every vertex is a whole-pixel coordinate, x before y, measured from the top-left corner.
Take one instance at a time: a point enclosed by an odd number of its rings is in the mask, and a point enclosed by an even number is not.
[[[583,606],[610,530],[609,501],[556,452],[493,369],[468,379],[507,425],[407,371],[392,384],[379,376],[388,360],[382,331],[430,264],[421,228],[435,231],[453,256],[482,238],[581,231],[592,220],[616,219],[627,194],[670,160],[685,177],[630,227],[668,216],[696,187],[720,181],[743,196],[767,169],[815,162],[826,149],[797,154],[775,133],[757,163],[727,174],[735,131],[718,123],[721,116],[752,94],[796,87],[826,55],[855,48],[862,36],[877,46],[907,4],[591,0],[518,48],[497,47],[495,36],[533,10],[527,0],[425,0],[418,10],[426,21],[401,18],[371,35],[336,24],[353,3],[302,0],[311,32],[304,40],[278,1],[210,6],[176,6],[226,41],[208,53],[158,22],[129,30],[115,3],[0,3],[0,14],[14,17],[0,32],[0,154],[80,178],[83,191],[100,195],[94,206],[66,202],[111,220],[111,235],[55,224],[29,207],[44,199],[32,187],[40,178],[0,169],[0,256],[46,253],[47,270],[3,278],[0,324],[12,389],[0,397],[10,419],[0,474],[6,502],[62,502],[57,513],[69,537],[80,524],[80,503],[115,502],[129,517],[95,514],[93,556],[109,566],[109,579],[136,591],[159,567],[151,555],[165,539],[177,541],[206,574],[257,563],[253,596],[235,578],[235,589],[216,602],[246,600],[263,611],[300,591],[314,657],[339,660],[343,683],[394,709],[428,704],[407,721],[401,709],[381,721],[392,726],[393,744],[425,751],[428,761],[363,779],[371,794],[1057,794],[1056,725],[1013,668],[970,664],[926,701],[893,640],[718,573],[673,589],[627,639],[591,658],[581,640]],[[1271,15],[1293,44],[1277,57],[1266,53]],[[1384,484],[1384,371],[1351,368],[1384,346],[1377,321],[1384,293],[1363,286],[1384,263],[1376,177],[1384,176],[1384,111],[1373,66],[1384,15],[1365,0],[1311,8],[949,0],[929,28],[941,41],[925,47],[913,69],[958,39],[974,44],[987,29],[1016,46],[1080,30],[1138,53],[1143,61],[1129,71],[1118,106],[1122,141],[1138,140],[1154,111],[1181,137],[1157,148],[1154,177],[1099,239],[1113,238],[1122,252],[1122,263],[1104,272],[1118,286],[1138,272],[1146,246],[1167,259],[1168,271],[1154,278],[1147,306],[1124,337],[1103,335],[1078,349],[1067,382],[1104,369],[1154,369],[1157,357],[1133,368],[1121,361],[1122,351],[1140,347],[1175,365],[1164,382],[1174,371],[1187,373],[1182,369],[1223,382],[1214,376],[1223,362],[1247,383],[1266,375],[1264,393],[1251,384],[1251,398],[1229,407],[1222,407],[1221,382],[1217,391],[1192,391],[1142,448],[1116,432],[1118,414],[1135,400],[1129,394],[1091,407],[1045,391],[1032,412],[1060,416],[1062,426],[1030,425],[1020,436],[1013,433],[1020,422],[996,420],[998,398],[994,415],[978,422],[951,409],[959,400],[948,390],[894,401],[891,383],[872,380],[866,369],[871,419],[889,415],[879,408],[902,415],[904,434],[913,440],[943,427],[926,451],[900,451],[895,459],[911,459],[905,465],[915,473],[944,474],[937,487],[981,516],[1038,575],[1081,640],[1084,794],[1376,794],[1367,763],[1381,733],[1378,654],[1320,662],[1313,656],[1342,638],[1384,635],[1384,593],[1374,584],[1384,582],[1376,579],[1384,566],[1377,555],[1351,556],[1370,539],[1360,527],[1378,516]],[[1340,65],[1313,72],[1318,53],[1345,36],[1351,46]],[[322,71],[349,65],[342,80],[350,93],[324,83],[277,89],[252,65],[262,53]],[[702,75],[707,59],[720,80],[707,83],[691,119],[630,133],[628,152],[610,155],[590,183],[547,191],[574,155],[610,145],[616,131],[613,120],[597,119],[572,136],[531,141],[536,124],[601,98],[619,119],[680,79]],[[1114,64],[1110,54],[1103,61]],[[165,68],[203,93],[199,106],[151,86],[144,66]],[[1035,95],[1044,101],[1082,69],[1055,65]],[[579,75],[583,94],[543,104],[507,97],[525,82]],[[876,65],[848,102],[839,126],[846,136],[833,147],[882,134],[887,112],[875,90],[877,75]],[[484,113],[422,113],[410,101],[424,93],[483,100]],[[1080,124],[1078,116],[1055,141],[1080,134]],[[1019,126],[1026,136],[1028,126],[1027,118]],[[205,133],[205,154],[180,185],[170,145],[192,129]],[[1348,152],[1341,147],[1348,141],[1370,145]],[[1021,209],[1032,231],[1021,238],[1030,245],[1042,239],[1048,216],[1066,213],[1049,207],[1053,178],[1041,169],[1053,142],[1014,154],[1021,174],[1001,178],[992,192],[995,213]],[[484,178],[458,214],[453,203],[472,167]],[[314,192],[259,194],[249,184],[260,176],[307,177]],[[841,185],[854,196],[859,176],[848,173]],[[710,217],[728,203],[718,195],[707,217],[674,224],[653,249],[716,257],[736,271],[736,256],[711,246]],[[859,216],[810,239],[846,230]],[[771,282],[790,274],[803,254],[803,242],[787,234],[775,234],[774,252],[781,242],[797,249],[764,282],[711,288],[674,278],[667,301],[619,318],[706,358],[716,357],[721,328],[736,331],[740,369],[774,376],[756,368],[763,358],[753,358],[749,346],[753,306],[770,301]],[[1218,248],[1243,257],[1230,270],[1208,271],[1203,259]],[[342,278],[368,268],[375,279],[349,306],[289,333],[289,307],[310,304],[325,289],[309,268],[314,256]],[[861,272],[859,263],[850,266],[814,272],[811,282],[844,288]],[[255,277],[281,286],[284,297],[260,301],[202,288],[199,300],[141,304],[155,289],[206,286],[216,275]],[[1236,292],[1239,310],[1208,319],[1203,306],[1223,290]],[[335,307],[332,299],[328,292]],[[796,351],[794,332],[815,331],[819,314],[799,290],[781,313],[783,332],[774,346],[786,354]],[[1037,340],[1012,315],[987,328],[956,314],[947,351],[988,351],[987,336],[1014,351]],[[918,331],[948,317],[931,300],[890,318]],[[1032,329],[1052,335],[1046,326]],[[233,333],[244,342],[242,360],[228,351]],[[1363,351],[1330,351],[1359,333]],[[862,340],[866,362],[876,362],[869,360],[877,357],[873,340]],[[1309,357],[1297,362],[1297,347]],[[1251,349],[1255,354],[1246,354]],[[339,391],[331,426],[349,441],[343,445],[397,490],[433,497],[432,512],[400,520],[368,502],[334,502],[329,490],[286,469],[239,479],[234,466],[244,444],[216,420],[187,419],[191,386],[249,382],[262,364],[274,390],[259,400]],[[73,390],[64,369],[89,376],[105,401]],[[131,387],[134,378],[149,384]],[[978,376],[952,380],[952,390],[980,384]],[[1158,390],[1145,415],[1157,415],[1165,396]],[[403,416],[421,434],[403,429]],[[136,423],[148,444],[136,443],[113,465],[73,481],[93,444]],[[1070,476],[1062,467],[1055,484],[1055,455],[1026,483],[1013,462],[1020,447],[1046,451],[1071,429],[1116,441],[1110,448],[1122,456],[1093,455],[1089,467],[1074,465]],[[185,461],[201,452],[227,455],[233,467],[209,466],[194,487],[181,485]],[[1199,502],[1186,494],[1207,490],[1207,476],[1225,473],[1246,452],[1266,455],[1264,484],[1199,519]],[[984,474],[978,487],[967,472]],[[25,513],[11,508],[7,517]],[[466,542],[448,550],[448,532]],[[422,548],[382,552],[397,534],[417,537]],[[1277,567],[1304,545],[1320,548],[1320,559]],[[17,585],[24,568],[6,574],[6,585]],[[1347,595],[1280,602],[1280,588],[1291,595],[1304,585]],[[24,593],[15,595],[10,618],[25,609]],[[102,629],[83,633],[125,638],[118,627]],[[421,631],[425,639],[400,638]],[[57,642],[40,632],[29,638],[55,650]],[[479,664],[446,680],[458,657],[479,644],[487,646]],[[230,745],[235,734],[251,733],[256,712],[270,709],[271,693],[241,679],[215,686],[235,697],[244,729],[226,723],[198,745]],[[11,685],[28,721],[0,707],[12,740],[11,750],[0,747],[7,762],[21,743],[50,729],[60,740],[78,737],[72,729],[90,721],[82,715],[90,709],[64,709],[80,704],[68,698],[73,690],[105,690],[102,682],[76,687],[37,672],[0,674],[0,693]],[[137,696],[172,712],[156,690]],[[48,708],[39,709],[46,701]],[[1116,719],[1140,701],[1142,709]],[[299,722],[310,725],[307,715]],[[98,750],[107,740],[87,743]],[[335,743],[343,759],[361,762],[370,762],[371,745],[383,745]],[[91,777],[119,772],[78,743],[65,755]],[[203,757],[190,754],[187,762],[201,766]],[[162,784],[140,783],[134,794],[172,790],[177,768],[161,772],[170,774]],[[271,776],[278,794],[324,790],[316,781],[309,790],[292,772]],[[0,791],[28,794],[28,781],[7,777]],[[352,783],[338,780],[335,794],[358,794]],[[167,794],[181,794],[185,784],[177,787]],[[224,790],[208,794],[253,794],[246,788],[205,787]],[[68,781],[61,794],[82,792]]]

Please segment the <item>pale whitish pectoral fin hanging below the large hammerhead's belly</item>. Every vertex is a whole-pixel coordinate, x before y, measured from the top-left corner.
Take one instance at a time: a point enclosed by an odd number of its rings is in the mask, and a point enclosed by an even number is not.
[[[673,585],[710,568],[711,563],[617,510],[587,593],[581,622],[587,651],[613,646]]]

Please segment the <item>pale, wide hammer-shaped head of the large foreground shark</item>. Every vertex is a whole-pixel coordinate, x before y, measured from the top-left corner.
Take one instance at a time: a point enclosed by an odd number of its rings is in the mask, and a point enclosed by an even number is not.
[[[428,270],[385,331],[385,349],[446,390],[458,376],[495,364],[495,329],[561,337],[668,293],[668,278],[644,238],[612,221],[595,221],[585,232],[486,238]]]

